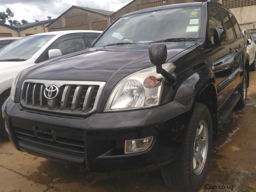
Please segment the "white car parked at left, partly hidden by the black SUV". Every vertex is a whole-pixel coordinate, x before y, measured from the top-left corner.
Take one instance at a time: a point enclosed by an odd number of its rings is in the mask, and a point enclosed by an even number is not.
[[[0,107],[10,96],[14,77],[22,70],[61,55],[85,50],[102,31],[55,31],[24,37],[0,50]],[[0,134],[6,136],[0,118]]]

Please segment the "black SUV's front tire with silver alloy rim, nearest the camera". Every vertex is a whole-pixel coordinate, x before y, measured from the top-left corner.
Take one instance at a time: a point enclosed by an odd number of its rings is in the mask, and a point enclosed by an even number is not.
[[[211,153],[211,114],[204,104],[196,103],[180,155],[161,169],[164,182],[174,190],[198,191],[207,175]]]

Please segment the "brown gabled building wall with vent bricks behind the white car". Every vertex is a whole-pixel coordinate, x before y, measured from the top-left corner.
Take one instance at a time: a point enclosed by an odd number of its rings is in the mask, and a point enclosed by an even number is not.
[[[48,27],[48,30],[104,30],[108,25],[108,16],[95,14],[73,7],[59,19],[55,20]]]

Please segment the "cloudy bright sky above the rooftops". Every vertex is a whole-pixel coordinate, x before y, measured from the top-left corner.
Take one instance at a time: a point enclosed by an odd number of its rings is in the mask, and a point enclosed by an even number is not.
[[[10,8],[14,12],[12,20],[27,20],[29,23],[57,18],[72,5],[117,11],[132,0],[0,0],[0,12]],[[9,24],[6,21],[6,24]]]

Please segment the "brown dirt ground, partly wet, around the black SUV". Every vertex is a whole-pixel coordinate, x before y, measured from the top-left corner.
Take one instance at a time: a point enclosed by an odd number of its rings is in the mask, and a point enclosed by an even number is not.
[[[213,142],[209,172],[200,192],[256,191],[256,72],[250,73],[246,108],[234,110]],[[217,189],[216,189],[217,188]],[[221,189],[220,189],[221,188]],[[0,138],[0,191],[171,191],[159,171],[91,173],[19,152]]]

